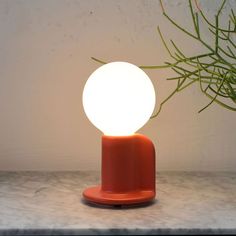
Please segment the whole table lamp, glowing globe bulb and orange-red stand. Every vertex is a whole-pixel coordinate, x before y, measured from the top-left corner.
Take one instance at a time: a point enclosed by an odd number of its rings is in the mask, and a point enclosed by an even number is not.
[[[128,62],[95,70],[83,91],[88,119],[103,132],[101,185],[84,190],[92,203],[128,205],[155,198],[155,148],[135,134],[151,117],[155,90],[147,74]]]

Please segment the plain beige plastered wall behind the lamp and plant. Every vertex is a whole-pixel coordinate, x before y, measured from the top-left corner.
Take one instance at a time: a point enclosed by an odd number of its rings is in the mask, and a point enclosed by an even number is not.
[[[187,1],[164,2],[191,27]],[[200,1],[212,16],[220,3]],[[99,66],[90,57],[162,64],[169,58],[157,25],[189,55],[202,50],[167,22],[157,0],[0,0],[0,170],[99,170],[101,133],[81,103]],[[146,72],[159,105],[175,83],[168,71]],[[207,102],[195,85],[139,131],[156,145],[158,170],[236,170],[236,113],[212,105],[198,114]]]

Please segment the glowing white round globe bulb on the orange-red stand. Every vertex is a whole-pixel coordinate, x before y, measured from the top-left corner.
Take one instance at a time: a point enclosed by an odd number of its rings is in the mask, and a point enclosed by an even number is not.
[[[147,74],[128,62],[99,67],[83,91],[87,117],[110,136],[135,133],[150,119],[155,102],[155,90]]]

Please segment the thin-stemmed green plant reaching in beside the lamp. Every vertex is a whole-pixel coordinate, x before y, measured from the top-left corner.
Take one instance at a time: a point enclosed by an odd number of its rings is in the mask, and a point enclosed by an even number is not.
[[[170,44],[172,45],[171,49],[164,39],[160,28],[157,27],[161,41],[173,61],[165,62],[164,65],[141,65],[140,68],[170,68],[175,71],[178,76],[167,78],[167,80],[176,81],[176,88],[160,103],[158,111],[151,118],[156,117],[160,113],[162,106],[173,97],[174,94],[183,91],[194,83],[198,83],[200,91],[210,99],[210,102],[199,112],[209,107],[213,102],[226,109],[236,111],[236,16],[234,11],[231,9],[227,27],[222,27],[220,25],[220,15],[226,0],[223,0],[217,11],[214,23],[212,23],[201,10],[197,0],[194,1],[195,12],[192,1],[189,0],[188,2],[194,32],[190,32],[176,23],[175,20],[166,13],[162,0],[160,0],[160,5],[165,18],[187,36],[200,42],[206,49],[206,52],[187,57],[173,40],[170,40]],[[211,45],[202,37],[200,20],[207,25],[209,32],[214,37],[214,45]],[[106,63],[96,58],[92,59],[100,63]]]

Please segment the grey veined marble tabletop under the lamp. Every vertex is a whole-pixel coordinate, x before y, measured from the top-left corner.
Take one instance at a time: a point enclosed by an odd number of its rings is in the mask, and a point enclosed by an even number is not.
[[[0,172],[0,235],[234,234],[236,173],[157,174],[157,200],[99,208],[81,199],[98,172]]]

